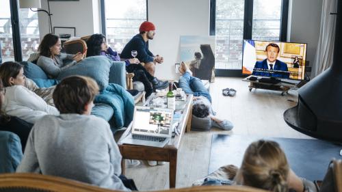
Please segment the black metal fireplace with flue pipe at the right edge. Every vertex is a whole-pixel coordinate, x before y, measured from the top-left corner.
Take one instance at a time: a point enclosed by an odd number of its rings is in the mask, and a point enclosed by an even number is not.
[[[342,1],[337,2],[332,66],[298,90],[298,105],[284,120],[297,131],[342,143]]]

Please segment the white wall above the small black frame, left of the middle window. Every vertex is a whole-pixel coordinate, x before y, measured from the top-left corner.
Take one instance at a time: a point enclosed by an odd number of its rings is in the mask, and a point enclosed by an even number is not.
[[[49,1],[53,27],[76,27],[76,36],[88,36],[100,32],[101,17],[99,0]],[[42,9],[48,10],[47,0],[42,0]],[[49,33],[49,20],[44,12],[38,14],[42,38]],[[95,21],[95,22],[94,22]]]

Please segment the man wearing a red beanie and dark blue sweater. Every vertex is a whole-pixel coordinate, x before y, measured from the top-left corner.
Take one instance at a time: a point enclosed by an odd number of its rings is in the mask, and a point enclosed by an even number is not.
[[[137,51],[137,59],[144,62],[144,67],[152,75],[155,76],[155,64],[163,63],[163,57],[159,55],[153,55],[148,50],[148,40],[153,40],[155,36],[155,25],[148,21],[144,21],[139,27],[139,34],[135,35],[121,52],[121,58],[133,58],[131,51]],[[157,82],[160,86],[157,87],[168,87],[167,81]],[[162,85],[162,86],[161,86]]]

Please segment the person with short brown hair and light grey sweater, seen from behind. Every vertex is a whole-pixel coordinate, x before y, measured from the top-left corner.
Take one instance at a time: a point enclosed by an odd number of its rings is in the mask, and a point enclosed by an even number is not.
[[[122,156],[108,122],[90,115],[97,94],[98,85],[89,77],[63,79],[53,92],[61,114],[46,115],[34,124],[16,172],[60,176],[130,191],[127,186],[135,184],[121,176]]]

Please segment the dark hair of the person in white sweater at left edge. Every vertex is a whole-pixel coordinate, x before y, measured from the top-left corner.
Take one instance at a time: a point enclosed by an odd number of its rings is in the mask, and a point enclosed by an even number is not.
[[[10,78],[16,78],[23,66],[16,61],[7,61],[0,66],[0,78],[3,82],[3,86],[10,87]],[[2,84],[2,83],[1,83]]]

